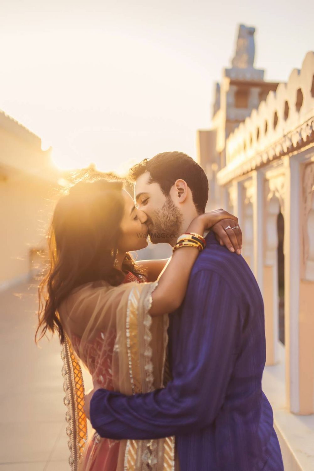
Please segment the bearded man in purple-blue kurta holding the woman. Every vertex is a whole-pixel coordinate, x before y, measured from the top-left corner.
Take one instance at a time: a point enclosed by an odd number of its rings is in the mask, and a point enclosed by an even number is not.
[[[184,233],[205,211],[204,171],[186,154],[166,152],[131,173],[152,242],[174,245],[176,238],[170,236]],[[235,237],[237,226],[225,231]],[[281,471],[273,411],[261,389],[266,360],[262,296],[241,256],[211,233],[206,241],[185,301],[170,315],[173,379],[164,389],[132,397],[97,390],[86,398],[91,423],[100,436],[112,439],[175,435],[181,471]]]

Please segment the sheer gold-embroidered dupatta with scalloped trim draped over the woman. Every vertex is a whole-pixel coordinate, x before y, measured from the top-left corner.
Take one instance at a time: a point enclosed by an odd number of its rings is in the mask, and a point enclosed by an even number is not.
[[[112,372],[114,390],[131,395],[161,388],[164,382],[169,321],[167,315],[153,318],[149,315],[152,292],[156,286],[157,282],[134,282],[118,287],[112,287],[104,281],[89,283],[73,290],[59,309],[68,335],[63,357],[64,365],[68,365],[65,366],[69,378],[66,382],[67,397],[70,401],[67,404],[67,433],[70,436],[70,464],[74,471],[87,471],[89,464],[84,461],[84,457],[81,459],[87,440],[86,417],[82,411],[84,385],[80,366],[70,345],[72,333],[80,335],[81,342],[77,353],[89,367],[86,353],[89,344],[100,334],[101,349],[106,349],[114,330],[113,355],[111,368],[108,369]],[[99,358],[104,358],[101,352]],[[94,375],[93,380],[99,382]],[[99,446],[101,440],[103,439],[99,437],[95,447]],[[157,440],[121,440],[119,443],[117,471],[170,471],[175,468],[173,437]]]

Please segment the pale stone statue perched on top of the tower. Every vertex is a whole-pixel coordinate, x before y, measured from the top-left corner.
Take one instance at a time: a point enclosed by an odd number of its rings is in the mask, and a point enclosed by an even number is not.
[[[254,32],[255,28],[240,24],[235,56],[232,59],[233,67],[239,69],[253,67],[255,55]]]

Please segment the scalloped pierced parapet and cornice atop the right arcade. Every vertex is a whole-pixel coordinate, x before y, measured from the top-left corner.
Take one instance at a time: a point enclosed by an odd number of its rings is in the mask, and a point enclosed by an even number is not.
[[[220,185],[314,142],[314,52],[226,140]]]

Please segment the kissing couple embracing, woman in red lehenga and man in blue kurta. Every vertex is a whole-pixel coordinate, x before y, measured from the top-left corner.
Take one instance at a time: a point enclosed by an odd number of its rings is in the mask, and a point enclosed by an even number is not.
[[[237,219],[204,212],[208,180],[165,152],[56,204],[37,334],[63,344],[73,470],[283,470],[261,389],[264,306]],[[129,254],[168,242],[169,260]],[[85,412],[81,370],[94,390]],[[86,442],[86,443],[85,443]]]

